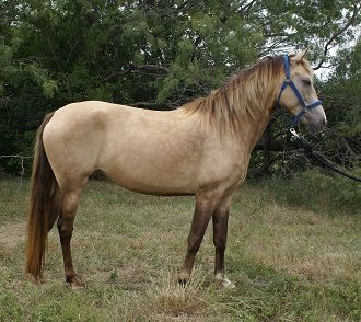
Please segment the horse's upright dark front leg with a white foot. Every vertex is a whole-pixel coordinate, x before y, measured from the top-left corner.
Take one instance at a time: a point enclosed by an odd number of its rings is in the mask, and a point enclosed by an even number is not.
[[[225,277],[224,251],[226,246],[228,221],[231,198],[223,198],[213,212],[213,243],[216,248],[214,277],[221,286],[234,288],[234,284]]]

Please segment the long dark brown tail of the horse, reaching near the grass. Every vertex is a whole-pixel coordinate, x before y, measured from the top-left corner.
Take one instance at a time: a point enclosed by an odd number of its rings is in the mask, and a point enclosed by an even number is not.
[[[43,143],[44,128],[53,115],[54,112],[47,114],[37,130],[31,180],[27,214],[26,272],[31,273],[36,280],[40,280],[44,269],[51,195],[56,189],[56,179]]]

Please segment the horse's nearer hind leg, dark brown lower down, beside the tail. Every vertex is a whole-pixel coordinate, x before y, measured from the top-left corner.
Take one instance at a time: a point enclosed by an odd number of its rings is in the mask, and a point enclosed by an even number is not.
[[[72,185],[71,187],[67,187],[62,191],[62,207],[61,214],[58,219],[58,231],[62,249],[66,280],[72,287],[82,286],[82,284],[77,278],[77,274],[72,265],[70,243],[78,205],[86,181],[83,181],[79,185]]]

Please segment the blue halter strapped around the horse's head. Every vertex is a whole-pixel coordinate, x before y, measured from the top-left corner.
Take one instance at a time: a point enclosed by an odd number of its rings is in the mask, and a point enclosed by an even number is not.
[[[281,99],[281,94],[284,91],[284,89],[289,85],[292,90],[293,93],[298,96],[299,103],[302,106],[301,112],[292,119],[290,127],[293,127],[298,124],[298,122],[300,120],[300,118],[307,113],[310,110],[317,107],[318,105],[322,105],[322,101],[317,101],[314,102],[310,105],[306,105],[306,103],[304,102],[300,91],[298,90],[298,88],[295,87],[295,84],[293,83],[293,81],[291,80],[291,74],[290,74],[290,60],[289,60],[289,56],[284,55],[283,56],[283,65],[284,65],[284,73],[286,73],[286,80],[283,81],[283,84],[281,87],[280,93],[278,94],[278,99],[277,99],[277,106],[280,106],[280,99]]]

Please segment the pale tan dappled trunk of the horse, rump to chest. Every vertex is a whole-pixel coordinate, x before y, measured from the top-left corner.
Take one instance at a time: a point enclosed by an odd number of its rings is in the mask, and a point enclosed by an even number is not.
[[[60,189],[96,169],[149,194],[195,194],[216,184],[225,189],[244,179],[252,150],[252,142],[201,129],[182,108],[155,112],[95,101],[58,110],[43,138]]]

